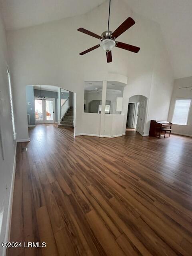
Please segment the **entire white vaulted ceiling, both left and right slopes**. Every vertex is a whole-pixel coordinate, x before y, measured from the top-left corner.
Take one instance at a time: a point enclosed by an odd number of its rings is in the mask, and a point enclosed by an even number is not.
[[[113,7],[111,0],[111,7]],[[192,76],[192,0],[123,0],[160,24],[174,77]],[[6,29],[84,14],[105,0],[0,0]],[[108,10],[106,10],[108,12]],[[117,14],[118,15],[118,14]]]

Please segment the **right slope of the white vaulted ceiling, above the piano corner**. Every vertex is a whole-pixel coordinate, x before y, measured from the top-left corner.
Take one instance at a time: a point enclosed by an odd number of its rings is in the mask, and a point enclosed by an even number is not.
[[[175,78],[192,76],[192,0],[124,0],[134,12],[158,22]]]

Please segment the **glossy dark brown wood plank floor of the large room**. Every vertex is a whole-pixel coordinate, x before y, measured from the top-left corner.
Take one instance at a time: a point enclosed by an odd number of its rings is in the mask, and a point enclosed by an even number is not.
[[[192,255],[192,138],[40,124],[30,139],[17,148],[11,241],[46,248],[9,256]]]

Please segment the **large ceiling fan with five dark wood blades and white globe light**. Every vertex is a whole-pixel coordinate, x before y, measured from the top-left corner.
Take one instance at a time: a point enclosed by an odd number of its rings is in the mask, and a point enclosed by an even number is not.
[[[89,36],[96,37],[96,38],[100,39],[100,41],[101,41],[100,44],[97,44],[96,46],[93,46],[93,47],[89,48],[88,50],[81,52],[80,55],[84,55],[84,54],[91,52],[92,50],[95,50],[96,48],[99,48],[101,46],[104,49],[104,51],[106,52],[107,62],[112,62],[111,50],[112,50],[112,48],[114,48],[114,46],[116,46],[118,48],[122,48],[124,50],[135,52],[135,53],[137,53],[140,50],[140,48],[137,46],[133,46],[130,44],[125,44],[122,42],[115,41],[118,36],[123,34],[126,30],[128,30],[128,28],[133,26],[135,24],[135,22],[131,17],[129,17],[114,32],[110,31],[109,30],[110,6],[111,6],[111,0],[109,0],[108,29],[107,29],[107,31],[104,31],[101,34],[101,36],[91,32],[89,30],[86,30],[84,28],[78,28],[78,31],[80,31],[84,34],[87,34]]]

